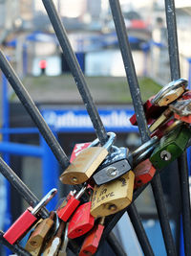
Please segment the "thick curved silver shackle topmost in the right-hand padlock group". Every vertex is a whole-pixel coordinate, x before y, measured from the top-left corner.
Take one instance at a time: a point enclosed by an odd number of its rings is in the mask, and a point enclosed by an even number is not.
[[[181,86],[187,87],[188,85],[188,81],[185,79],[179,79],[176,81],[171,81],[168,84],[166,84],[160,91],[158,94],[156,94],[155,98],[153,98],[151,100],[151,103],[153,105],[158,104],[159,100],[165,96],[166,93],[170,92],[171,90],[180,88]]]

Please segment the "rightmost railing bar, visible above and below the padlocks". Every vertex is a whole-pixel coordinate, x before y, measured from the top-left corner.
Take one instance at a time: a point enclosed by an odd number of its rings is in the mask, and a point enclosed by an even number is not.
[[[170,58],[171,79],[178,80],[180,79],[180,58],[174,0],[165,0],[165,12],[168,34],[168,51]],[[191,213],[186,152],[183,152],[181,156],[178,158],[178,166],[180,173],[180,196],[182,207],[184,250],[186,255],[191,255]]]

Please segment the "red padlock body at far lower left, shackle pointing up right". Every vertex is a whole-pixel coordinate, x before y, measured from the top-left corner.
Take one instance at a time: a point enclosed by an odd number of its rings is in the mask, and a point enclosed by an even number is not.
[[[21,240],[26,232],[32,227],[32,224],[37,221],[37,218],[31,213],[32,207],[29,207],[5,232],[4,238],[10,243],[14,244]]]

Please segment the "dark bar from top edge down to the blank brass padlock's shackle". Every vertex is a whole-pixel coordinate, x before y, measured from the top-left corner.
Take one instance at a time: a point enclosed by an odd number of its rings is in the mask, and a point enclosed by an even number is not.
[[[56,12],[53,1],[42,0],[42,2],[52,22],[55,35],[58,38],[64,57],[66,58],[70,66],[78,91],[92,120],[93,126],[96,130],[96,136],[98,137],[100,144],[104,145],[107,141],[107,133],[105,128],[103,127],[102,121],[100,119],[100,116],[96,109],[96,105],[93,101],[87,83],[85,81],[84,75],[74,55],[74,51],[66,34],[65,28],[61,22],[60,17],[58,16],[58,13]]]

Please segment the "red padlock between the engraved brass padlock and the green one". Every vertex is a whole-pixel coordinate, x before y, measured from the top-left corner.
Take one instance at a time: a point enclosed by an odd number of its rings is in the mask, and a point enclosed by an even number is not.
[[[152,165],[149,159],[146,159],[141,163],[139,163],[138,166],[134,168],[134,174],[135,174],[134,188],[137,189],[142,185],[151,181],[155,173],[156,173],[156,169]]]

